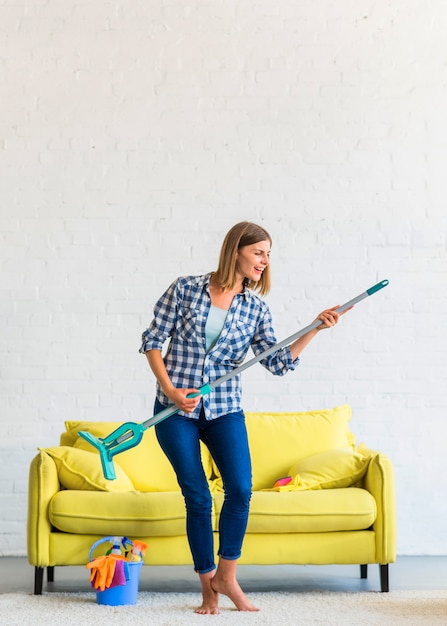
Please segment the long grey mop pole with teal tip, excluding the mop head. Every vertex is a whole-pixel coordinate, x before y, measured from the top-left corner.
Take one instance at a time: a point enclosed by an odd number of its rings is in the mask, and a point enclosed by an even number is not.
[[[352,300],[348,300],[348,302],[345,302],[344,304],[342,304],[341,306],[337,307],[334,310],[337,311],[337,313],[343,313],[343,311],[346,311],[347,309],[354,306],[358,302],[361,302],[361,300],[364,300],[368,296],[372,296],[373,293],[376,293],[380,289],[383,289],[383,287],[386,287],[388,283],[389,283],[389,280],[382,280],[380,283],[377,283],[373,287],[370,287],[363,293],[359,294],[355,298],[352,298]],[[273,346],[271,346],[264,352],[261,352],[260,354],[255,356],[253,359],[250,359],[246,363],[242,363],[242,365],[239,365],[239,367],[236,367],[234,370],[227,372],[227,374],[224,374],[224,376],[221,376],[220,378],[213,380],[211,383],[207,383],[203,385],[203,387],[199,389],[198,393],[189,394],[188,398],[193,398],[194,396],[199,396],[199,395],[202,395],[202,396],[207,395],[208,393],[210,393],[210,391],[212,391],[212,389],[214,389],[214,387],[218,387],[219,385],[224,383],[226,380],[229,380],[230,378],[237,376],[238,374],[248,369],[252,365],[255,365],[255,363],[259,363],[259,361],[262,361],[263,359],[267,358],[274,352],[277,352],[281,348],[284,348],[285,346],[290,345],[291,343],[293,343],[294,341],[296,341],[297,339],[299,339],[306,333],[310,332],[314,328],[318,328],[318,326],[320,326],[322,323],[323,322],[321,320],[315,320],[314,322],[312,322],[312,324],[309,324],[309,326],[302,328],[301,330],[297,331],[293,335],[290,335],[290,337],[286,337],[286,339],[283,339],[279,343],[275,343]],[[149,428],[150,426],[158,424],[158,422],[161,422],[162,420],[166,419],[167,417],[175,413],[177,410],[178,409],[175,405],[170,405],[166,407],[165,409],[163,409],[162,411],[160,411],[160,413],[157,413],[153,417],[143,422],[143,427]],[[120,438],[118,438],[117,441],[120,441]]]

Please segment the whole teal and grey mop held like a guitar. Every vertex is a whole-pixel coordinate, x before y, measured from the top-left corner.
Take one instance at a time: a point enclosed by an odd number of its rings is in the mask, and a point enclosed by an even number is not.
[[[338,313],[342,313],[343,311],[346,311],[347,309],[351,308],[352,306],[354,306],[361,300],[367,298],[368,296],[372,296],[374,293],[376,293],[380,289],[383,289],[383,287],[386,287],[388,283],[389,283],[388,280],[382,280],[380,283],[377,283],[376,285],[374,285],[373,287],[370,287],[369,289],[359,294],[355,298],[352,298],[352,300],[349,300],[348,302],[345,302],[345,304],[342,304],[341,306],[337,307],[335,311],[337,311]],[[309,331],[315,328],[318,328],[318,326],[320,326],[320,324],[322,323],[323,322],[319,319],[315,320],[314,322],[312,322],[312,324],[309,324],[309,326],[302,328],[301,330],[297,331],[290,337],[287,337],[283,341],[280,341],[279,343],[274,344],[267,350],[264,350],[264,352],[262,352],[261,354],[258,354],[253,359],[246,361],[245,363],[231,370],[224,376],[221,376],[220,378],[217,378],[216,380],[206,385],[203,385],[203,387],[201,387],[197,393],[190,394],[190,396],[188,397],[194,397],[198,395],[201,395],[201,396],[207,395],[215,387],[218,387],[226,380],[229,380],[230,378],[237,376],[238,374],[240,374],[247,368],[251,367],[255,363],[258,363],[262,359],[265,359],[266,357],[268,357],[270,354],[273,354],[277,350],[290,345],[291,343],[299,339],[299,337],[302,337]],[[138,445],[143,437],[144,432],[148,428],[150,428],[151,426],[155,426],[155,424],[158,424],[159,422],[165,420],[166,418],[170,417],[177,411],[178,411],[177,406],[170,405],[166,407],[165,409],[163,409],[163,411],[160,411],[156,415],[153,415],[151,418],[149,418],[145,422],[141,422],[141,423],[126,422],[125,424],[122,424],[116,430],[114,430],[110,435],[108,435],[107,437],[103,437],[103,438],[94,437],[91,433],[87,431],[79,431],[79,435],[99,451],[104,477],[108,480],[114,480],[116,478],[116,474],[115,474],[115,468],[113,465],[113,457],[116,454],[120,454],[121,452],[130,450],[130,448],[133,448],[134,446]]]

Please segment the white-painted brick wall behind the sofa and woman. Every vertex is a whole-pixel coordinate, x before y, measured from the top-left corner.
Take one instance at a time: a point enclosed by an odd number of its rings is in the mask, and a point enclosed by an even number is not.
[[[0,6],[0,555],[65,419],[144,421],[138,354],[226,230],[274,238],[278,339],[378,280],[247,410],[348,402],[388,453],[398,552],[447,554],[447,6],[208,0]]]

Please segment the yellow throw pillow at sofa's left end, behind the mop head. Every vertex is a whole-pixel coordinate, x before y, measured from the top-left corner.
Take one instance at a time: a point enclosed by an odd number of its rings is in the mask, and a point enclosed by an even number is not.
[[[87,452],[70,446],[39,448],[54,460],[59,481],[65,489],[88,491],[135,491],[132,481],[115,462],[116,479],[104,478],[101,460],[96,452]]]

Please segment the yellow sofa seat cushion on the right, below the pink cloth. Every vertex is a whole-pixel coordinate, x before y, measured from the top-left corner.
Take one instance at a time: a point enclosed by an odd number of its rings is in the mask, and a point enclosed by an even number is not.
[[[216,514],[223,494],[214,495]],[[376,501],[357,487],[320,491],[257,491],[252,495],[248,533],[324,533],[364,530],[377,515]],[[273,539],[274,541],[274,539]]]

